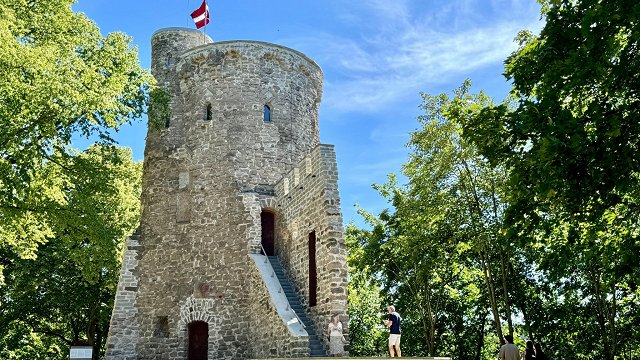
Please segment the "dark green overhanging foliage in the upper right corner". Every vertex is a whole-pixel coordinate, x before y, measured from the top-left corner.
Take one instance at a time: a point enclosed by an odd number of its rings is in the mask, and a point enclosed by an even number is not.
[[[512,169],[512,222],[524,231],[566,223],[574,236],[582,223],[606,225],[637,207],[627,195],[637,193],[640,170],[640,5],[547,5],[541,34],[522,35],[507,59],[517,108],[487,107],[465,135]]]

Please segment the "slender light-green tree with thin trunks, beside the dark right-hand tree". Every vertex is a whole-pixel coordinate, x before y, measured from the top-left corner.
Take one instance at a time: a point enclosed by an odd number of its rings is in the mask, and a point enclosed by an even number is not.
[[[465,243],[475,255],[475,262],[469,265],[483,275],[496,335],[502,339],[501,301],[509,333],[513,334],[508,281],[513,275],[509,271],[513,268],[511,244],[501,233],[504,169],[491,167],[460,136],[462,124],[469,117],[492,105],[485,94],[470,94],[469,87],[466,81],[452,99],[446,94],[423,94],[421,107],[426,114],[419,117],[422,129],[412,133],[409,145],[414,151],[403,169],[414,201],[422,203],[423,216],[439,227],[449,226],[452,239]]]

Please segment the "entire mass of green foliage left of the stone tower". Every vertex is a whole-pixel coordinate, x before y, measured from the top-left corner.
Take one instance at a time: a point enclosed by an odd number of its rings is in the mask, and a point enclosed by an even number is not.
[[[104,346],[140,165],[110,134],[145,110],[151,75],[122,33],[73,0],[0,0],[0,358]],[[84,152],[72,136],[97,139]]]

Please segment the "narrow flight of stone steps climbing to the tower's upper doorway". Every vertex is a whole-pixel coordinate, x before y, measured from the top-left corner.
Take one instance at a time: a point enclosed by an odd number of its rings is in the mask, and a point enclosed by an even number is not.
[[[326,357],[327,352],[324,349],[321,335],[318,335],[316,333],[316,326],[313,320],[311,320],[311,318],[307,315],[307,312],[304,311],[302,302],[300,301],[295,288],[291,284],[289,277],[284,272],[284,269],[280,264],[280,260],[278,260],[277,256],[268,256],[268,258],[269,262],[271,263],[271,267],[273,268],[273,272],[276,274],[276,277],[280,282],[280,286],[282,286],[282,290],[284,291],[284,294],[289,301],[289,306],[291,306],[291,309],[295,311],[300,321],[304,324],[305,330],[309,334],[309,356]]]

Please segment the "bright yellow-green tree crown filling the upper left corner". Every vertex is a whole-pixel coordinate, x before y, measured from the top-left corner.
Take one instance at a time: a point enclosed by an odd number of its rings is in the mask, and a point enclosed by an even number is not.
[[[68,204],[50,164],[71,156],[73,134],[113,142],[153,83],[130,39],[103,37],[73,2],[0,0],[0,249],[25,259],[54,237],[48,214]]]

